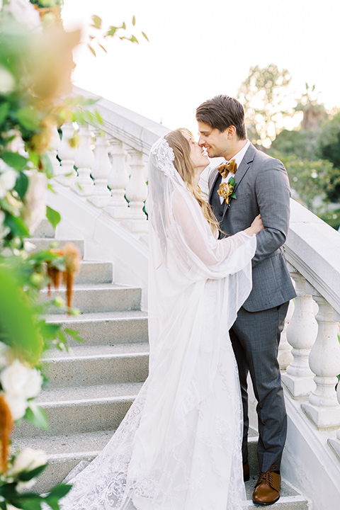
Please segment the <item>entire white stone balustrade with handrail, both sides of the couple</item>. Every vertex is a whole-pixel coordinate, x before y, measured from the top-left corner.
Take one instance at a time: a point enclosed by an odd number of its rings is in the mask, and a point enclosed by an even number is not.
[[[75,93],[94,97],[80,89]],[[56,179],[140,236],[147,230],[147,156],[167,130],[111,101],[100,99],[96,109],[103,118],[102,131],[81,126],[77,149],[67,143],[74,127],[62,126],[62,140],[53,147],[61,161]],[[340,461],[340,385],[336,392],[340,234],[292,200],[284,248],[297,297],[290,303],[281,336],[278,356],[283,384],[288,398],[298,402],[315,430],[329,431],[330,451]]]

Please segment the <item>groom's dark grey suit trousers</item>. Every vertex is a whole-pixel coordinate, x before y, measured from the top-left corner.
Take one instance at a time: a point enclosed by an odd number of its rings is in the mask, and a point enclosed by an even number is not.
[[[258,402],[259,423],[257,456],[260,471],[272,465],[280,469],[283,446],[287,436],[287,417],[278,365],[278,344],[285,323],[288,302],[262,312],[239,310],[229,331],[239,369],[244,412],[243,462],[248,460],[249,429],[247,376],[250,372]]]

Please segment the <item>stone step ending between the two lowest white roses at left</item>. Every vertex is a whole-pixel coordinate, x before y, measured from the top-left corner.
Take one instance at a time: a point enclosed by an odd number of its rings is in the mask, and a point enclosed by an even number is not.
[[[43,390],[35,402],[47,412],[50,429],[40,436],[71,434],[74,431],[115,430],[140,391],[142,383],[98,385]],[[37,429],[23,421],[13,435],[34,438]]]

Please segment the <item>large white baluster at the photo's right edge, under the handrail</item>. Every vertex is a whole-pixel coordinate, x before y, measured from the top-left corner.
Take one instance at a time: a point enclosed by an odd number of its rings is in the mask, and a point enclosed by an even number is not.
[[[314,291],[316,293],[316,291]],[[318,429],[340,426],[340,405],[336,398],[336,375],[340,373],[340,345],[337,336],[338,324],[333,318],[333,307],[319,295],[314,294],[319,305],[317,314],[317,339],[310,351],[310,368],[315,374],[317,385],[302,404],[302,409],[310,416]]]

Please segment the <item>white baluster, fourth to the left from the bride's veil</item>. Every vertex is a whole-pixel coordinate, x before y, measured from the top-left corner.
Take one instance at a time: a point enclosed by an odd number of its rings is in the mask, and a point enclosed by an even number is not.
[[[89,196],[94,193],[94,181],[91,179],[91,166],[94,162],[94,152],[91,149],[91,132],[88,125],[79,128],[80,143],[74,164],[77,166],[78,176],[72,188],[79,195]]]

